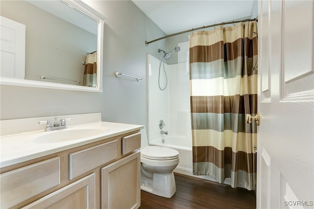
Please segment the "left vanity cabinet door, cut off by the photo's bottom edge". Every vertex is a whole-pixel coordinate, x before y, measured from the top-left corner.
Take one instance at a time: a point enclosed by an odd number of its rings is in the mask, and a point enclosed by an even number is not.
[[[23,209],[95,209],[95,173],[25,206]]]

